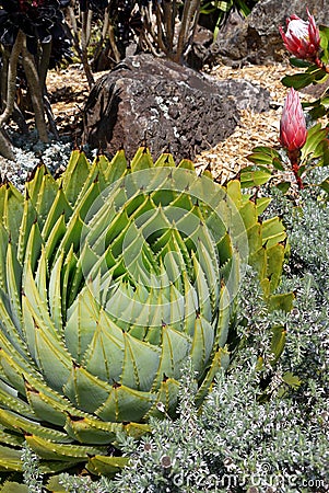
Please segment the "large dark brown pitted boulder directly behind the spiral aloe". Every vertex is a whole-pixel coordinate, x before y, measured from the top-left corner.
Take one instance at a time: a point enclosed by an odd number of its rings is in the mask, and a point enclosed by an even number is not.
[[[154,157],[169,150],[176,160],[193,159],[233,133],[238,107],[255,100],[266,107],[267,91],[231,82],[151,55],[126,58],[93,88],[84,108],[83,142],[109,154],[124,147],[129,159],[144,142]]]

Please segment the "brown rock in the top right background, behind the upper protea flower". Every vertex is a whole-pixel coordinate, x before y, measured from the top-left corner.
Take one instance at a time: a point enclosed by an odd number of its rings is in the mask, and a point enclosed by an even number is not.
[[[282,61],[287,51],[279,26],[284,26],[285,19],[293,13],[307,20],[306,7],[317,24],[328,23],[328,0],[259,0],[246,20],[233,12],[228,18],[228,28],[219,33],[207,61],[232,66]]]

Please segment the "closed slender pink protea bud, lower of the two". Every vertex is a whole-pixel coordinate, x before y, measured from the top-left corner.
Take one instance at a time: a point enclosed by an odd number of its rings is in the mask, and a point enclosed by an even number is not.
[[[298,93],[291,88],[280,122],[280,142],[290,152],[301,149],[307,137],[306,122]]]

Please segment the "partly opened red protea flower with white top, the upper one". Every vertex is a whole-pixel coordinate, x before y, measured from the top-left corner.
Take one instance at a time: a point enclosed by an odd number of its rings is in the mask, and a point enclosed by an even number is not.
[[[286,33],[280,26],[280,34],[286,49],[297,58],[314,60],[320,47],[320,33],[314,16],[306,9],[308,22],[293,14],[286,20]]]

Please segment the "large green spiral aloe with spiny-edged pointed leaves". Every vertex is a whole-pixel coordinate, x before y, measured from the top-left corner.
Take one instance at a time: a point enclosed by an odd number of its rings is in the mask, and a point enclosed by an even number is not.
[[[258,220],[268,203],[144,148],[130,163],[75,150],[60,177],[38,165],[24,195],[3,182],[0,471],[22,470],[25,443],[44,472],[116,471],[118,433],[175,415],[187,358],[202,402],[230,362],[244,265],[269,303],[286,302],[273,295],[284,228]]]

